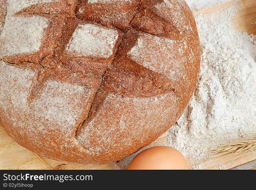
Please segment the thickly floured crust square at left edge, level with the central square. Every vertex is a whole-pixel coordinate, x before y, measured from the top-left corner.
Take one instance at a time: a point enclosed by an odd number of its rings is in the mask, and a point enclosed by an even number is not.
[[[0,36],[0,57],[38,52],[48,23],[47,18],[38,16],[6,19]]]

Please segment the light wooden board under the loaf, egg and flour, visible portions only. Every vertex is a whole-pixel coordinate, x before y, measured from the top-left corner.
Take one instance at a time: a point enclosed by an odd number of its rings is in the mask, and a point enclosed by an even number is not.
[[[194,12],[194,15],[207,14],[212,11],[220,10],[230,5],[232,2],[234,1]],[[256,35],[256,1],[241,0],[241,2],[242,10],[235,16],[233,26],[242,32],[246,31],[249,34],[254,33]],[[149,146],[166,145],[166,135],[167,133],[159,137]],[[118,165],[118,163],[115,162],[103,165],[69,164],[40,157],[12,140],[6,134],[1,124],[0,139],[0,169],[115,169],[115,165]],[[201,163],[194,163],[193,160],[190,160],[189,158],[187,158],[187,160],[189,169],[191,169],[193,165],[200,165],[200,168],[205,169],[219,169],[220,166],[222,169],[232,169],[256,160],[256,152],[248,153],[243,156],[231,155],[211,158]]]

